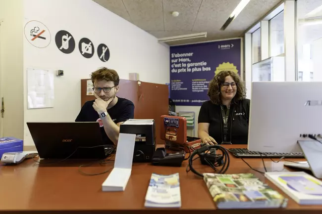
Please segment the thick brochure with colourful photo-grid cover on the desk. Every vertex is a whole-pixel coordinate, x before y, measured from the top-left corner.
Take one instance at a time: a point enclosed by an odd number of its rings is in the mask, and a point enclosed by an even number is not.
[[[287,199],[252,173],[204,173],[204,181],[218,209],[281,208]]]

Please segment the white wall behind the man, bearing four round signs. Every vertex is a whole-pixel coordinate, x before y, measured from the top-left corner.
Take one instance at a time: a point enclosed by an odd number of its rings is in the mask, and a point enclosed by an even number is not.
[[[121,79],[129,79],[129,73],[137,72],[144,82],[169,81],[169,47],[91,0],[24,0],[24,18],[25,23],[44,23],[52,37],[46,48],[34,47],[24,40],[24,71],[28,67],[64,70],[64,76],[54,78],[54,108],[27,109],[25,95],[25,122],[74,121],[81,108],[80,80],[89,78],[101,66],[115,69]],[[62,53],[55,44],[55,34],[60,30],[68,31],[75,39],[75,50],[70,54]],[[109,60],[102,62],[97,53],[89,59],[83,57],[78,50],[83,37],[96,45],[95,50],[98,44],[107,44]],[[26,125],[25,143],[33,144]]]

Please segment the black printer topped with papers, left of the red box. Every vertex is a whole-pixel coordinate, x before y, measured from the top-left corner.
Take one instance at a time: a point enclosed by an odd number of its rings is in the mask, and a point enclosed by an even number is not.
[[[136,134],[133,162],[151,162],[156,150],[156,126],[153,119],[130,119],[120,126],[120,133]]]

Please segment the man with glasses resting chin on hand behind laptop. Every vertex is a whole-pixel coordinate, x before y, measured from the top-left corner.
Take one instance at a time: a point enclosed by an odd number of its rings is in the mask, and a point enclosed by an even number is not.
[[[134,104],[116,96],[119,77],[115,70],[100,68],[91,79],[96,99],[83,105],[75,122],[99,122],[104,143],[116,145],[120,125],[134,118]]]

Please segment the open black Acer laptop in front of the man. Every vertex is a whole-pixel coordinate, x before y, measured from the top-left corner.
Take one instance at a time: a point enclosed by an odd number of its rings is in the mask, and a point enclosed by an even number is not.
[[[97,122],[27,122],[27,126],[42,159],[104,159],[114,149],[104,145]]]

